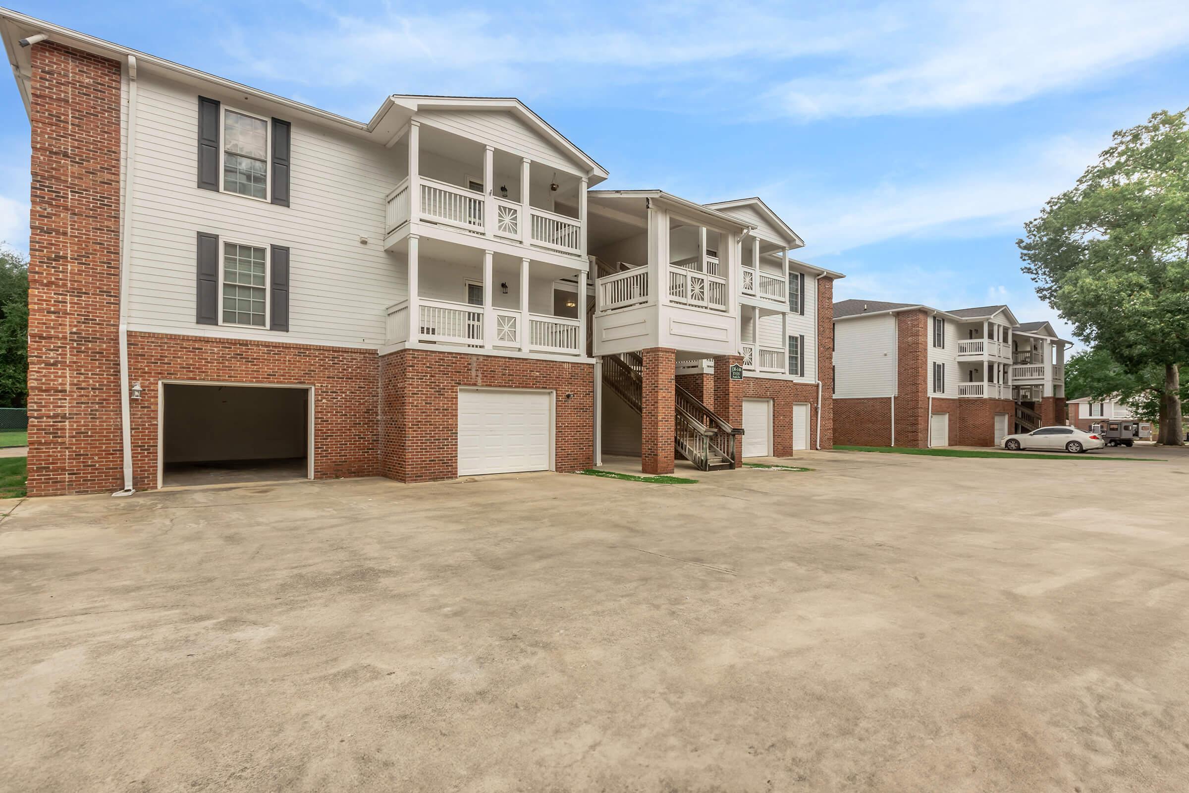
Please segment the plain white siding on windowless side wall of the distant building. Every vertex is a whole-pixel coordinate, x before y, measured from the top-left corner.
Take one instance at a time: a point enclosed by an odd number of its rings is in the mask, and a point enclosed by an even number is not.
[[[895,316],[861,316],[833,326],[835,396],[886,397],[897,388]]]

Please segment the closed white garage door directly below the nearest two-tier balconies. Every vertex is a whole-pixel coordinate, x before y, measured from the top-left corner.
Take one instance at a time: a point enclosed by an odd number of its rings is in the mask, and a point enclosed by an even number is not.
[[[548,391],[459,389],[458,476],[548,471]]]

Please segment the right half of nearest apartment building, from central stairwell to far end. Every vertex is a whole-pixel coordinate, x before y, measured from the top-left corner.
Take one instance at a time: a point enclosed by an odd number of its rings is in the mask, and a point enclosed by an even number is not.
[[[655,472],[672,470],[671,448],[704,470],[830,448],[831,371],[819,361],[842,273],[792,259],[803,240],[759,197],[699,206],[593,190],[590,207],[600,451],[641,454]],[[649,377],[666,380],[655,405],[637,396]]]

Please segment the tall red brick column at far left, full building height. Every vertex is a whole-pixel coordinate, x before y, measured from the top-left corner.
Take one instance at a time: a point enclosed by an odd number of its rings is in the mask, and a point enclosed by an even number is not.
[[[118,490],[121,67],[30,57],[29,495]]]

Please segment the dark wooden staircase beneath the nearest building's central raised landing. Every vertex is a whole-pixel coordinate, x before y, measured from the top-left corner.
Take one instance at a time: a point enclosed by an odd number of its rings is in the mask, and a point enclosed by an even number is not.
[[[628,407],[643,415],[644,360],[637,352],[603,358],[603,382]],[[736,455],[742,453],[742,429],[719,418],[680,385],[673,385],[674,432],[673,451],[699,471],[734,468]]]

